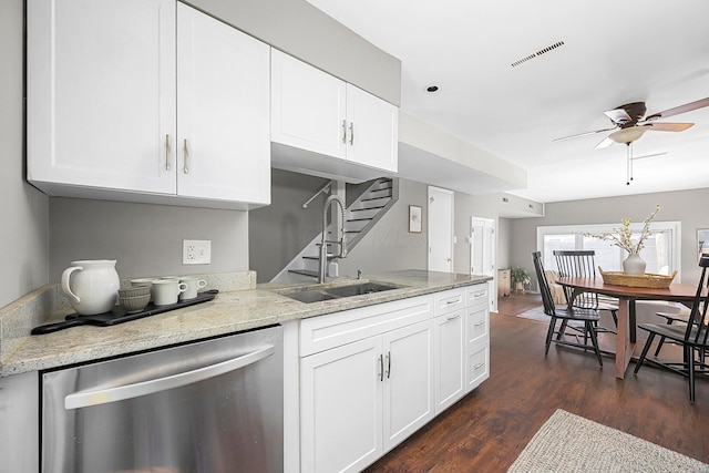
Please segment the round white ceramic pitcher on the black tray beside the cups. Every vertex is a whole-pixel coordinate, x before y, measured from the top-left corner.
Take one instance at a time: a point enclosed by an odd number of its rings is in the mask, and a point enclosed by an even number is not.
[[[109,312],[115,306],[120,286],[115,259],[71,261],[62,273],[62,291],[82,316]]]

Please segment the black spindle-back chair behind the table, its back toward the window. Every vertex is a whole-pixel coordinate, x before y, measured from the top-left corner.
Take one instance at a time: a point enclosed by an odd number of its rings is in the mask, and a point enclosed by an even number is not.
[[[554,257],[556,258],[556,267],[558,269],[559,277],[575,277],[575,278],[596,278],[596,251],[593,249],[574,249],[574,250],[554,250]],[[569,287],[564,288],[566,300],[572,300],[573,289]],[[573,307],[580,309],[593,310],[607,310],[613,317],[613,321],[618,327],[618,306],[612,304],[600,302],[598,300],[597,292],[580,292],[573,298]],[[615,330],[598,327],[598,331],[607,331],[615,333]]]

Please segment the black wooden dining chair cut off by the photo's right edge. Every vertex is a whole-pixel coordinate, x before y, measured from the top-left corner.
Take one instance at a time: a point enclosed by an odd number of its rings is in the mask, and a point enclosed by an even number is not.
[[[645,342],[645,347],[643,347],[643,352],[640,353],[640,358],[638,358],[634,371],[637,373],[640,370],[640,367],[643,367],[647,352],[656,336],[665,337],[665,339],[672,340],[674,342],[681,345],[681,362],[661,362],[657,359],[654,359],[653,361],[688,378],[689,402],[695,402],[695,379],[697,374],[709,373],[709,366],[706,360],[706,354],[709,349],[709,345],[707,343],[709,336],[709,329],[707,327],[707,308],[709,307],[709,271],[707,271],[707,268],[709,267],[709,256],[701,257],[699,260],[699,267],[701,268],[701,275],[699,276],[697,292],[687,323],[638,325],[638,328],[646,330],[649,336]]]

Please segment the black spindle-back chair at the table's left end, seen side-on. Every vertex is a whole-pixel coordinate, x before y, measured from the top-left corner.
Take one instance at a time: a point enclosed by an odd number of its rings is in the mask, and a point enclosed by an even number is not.
[[[544,305],[544,313],[551,317],[549,328],[546,332],[546,341],[544,347],[544,356],[546,357],[549,351],[552,342],[568,347],[583,348],[584,350],[593,349],[598,359],[598,364],[603,367],[603,359],[600,358],[600,349],[598,348],[598,337],[596,336],[598,312],[593,309],[585,309],[578,307],[556,306],[552,298],[552,291],[549,290],[549,284],[544,273],[544,265],[542,264],[542,253],[534,251],[532,254],[534,261],[534,270],[540,284],[540,292],[542,294],[542,304]],[[561,321],[557,330],[556,322]],[[580,321],[583,326],[576,327],[569,325],[569,321]],[[575,330],[583,335],[583,343],[579,341],[579,336],[576,333],[566,333],[567,329]],[[556,337],[554,337],[556,335]],[[565,338],[566,337],[566,338]],[[567,337],[573,337],[576,341],[571,341]],[[590,339],[590,346],[588,345]]]

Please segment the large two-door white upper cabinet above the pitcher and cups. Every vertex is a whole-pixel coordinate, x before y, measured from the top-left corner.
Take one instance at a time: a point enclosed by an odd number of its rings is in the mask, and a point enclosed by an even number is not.
[[[174,0],[28,2],[28,181],[49,195],[268,204],[268,58]]]

